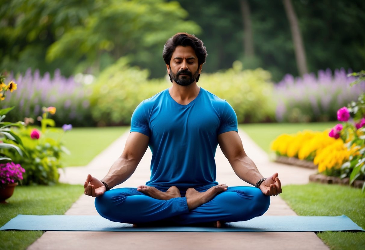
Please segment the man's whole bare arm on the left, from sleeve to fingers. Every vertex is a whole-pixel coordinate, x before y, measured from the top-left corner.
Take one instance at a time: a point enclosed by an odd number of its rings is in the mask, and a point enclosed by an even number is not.
[[[110,188],[126,181],[137,168],[148,147],[149,137],[138,132],[131,132],[128,136],[126,146],[122,155],[114,162],[107,175],[98,180],[88,175],[85,183],[85,195],[97,197],[106,191],[104,181]]]

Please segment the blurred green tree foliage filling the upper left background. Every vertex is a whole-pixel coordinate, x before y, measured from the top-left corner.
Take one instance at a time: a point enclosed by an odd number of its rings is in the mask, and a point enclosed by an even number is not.
[[[151,63],[163,62],[162,44],[177,32],[200,31],[177,1],[165,0],[10,0],[0,16],[0,70],[16,73],[32,66],[41,74],[95,74],[132,55],[134,64],[162,76]]]

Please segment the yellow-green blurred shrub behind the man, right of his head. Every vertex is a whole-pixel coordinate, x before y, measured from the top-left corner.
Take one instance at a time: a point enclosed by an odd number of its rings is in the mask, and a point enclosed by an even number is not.
[[[202,74],[198,84],[226,99],[237,114],[238,123],[271,121],[274,117],[271,75],[262,69],[242,70],[242,64],[213,74]]]

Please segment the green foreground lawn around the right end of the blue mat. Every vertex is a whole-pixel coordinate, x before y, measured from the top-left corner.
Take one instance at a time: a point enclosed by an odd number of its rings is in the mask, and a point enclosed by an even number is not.
[[[303,216],[346,215],[365,228],[365,193],[341,185],[310,183],[283,187],[280,196]],[[365,249],[365,232],[332,232],[317,234],[331,249]]]

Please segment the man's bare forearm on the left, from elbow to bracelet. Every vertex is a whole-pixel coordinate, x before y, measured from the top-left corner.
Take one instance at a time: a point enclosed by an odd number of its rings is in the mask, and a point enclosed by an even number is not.
[[[115,187],[126,181],[134,173],[137,168],[138,162],[135,159],[126,159],[119,157],[116,160],[107,175],[102,179],[110,188]]]

